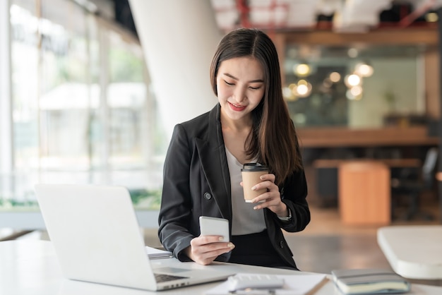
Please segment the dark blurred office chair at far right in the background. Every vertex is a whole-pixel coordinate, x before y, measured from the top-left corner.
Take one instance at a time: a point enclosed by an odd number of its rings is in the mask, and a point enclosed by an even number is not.
[[[422,193],[431,191],[434,186],[436,162],[438,158],[438,148],[430,148],[426,152],[424,164],[418,174],[413,174],[405,169],[402,174],[391,179],[392,195],[392,217],[398,197],[408,198],[408,210],[405,219],[410,220],[413,217],[420,217],[426,220],[432,220],[434,217],[427,212],[419,210],[419,201]]]

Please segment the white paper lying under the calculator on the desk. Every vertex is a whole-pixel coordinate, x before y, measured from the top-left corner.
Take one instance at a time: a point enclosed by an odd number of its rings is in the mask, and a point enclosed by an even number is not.
[[[263,275],[263,274],[249,274],[239,273],[237,275]],[[273,274],[272,274],[273,275]],[[276,275],[284,279],[284,287],[275,289],[277,295],[304,295],[308,294],[318,284],[323,282],[327,275],[304,274],[299,275]],[[223,282],[212,289],[205,292],[205,295],[225,295],[229,294],[229,282]]]

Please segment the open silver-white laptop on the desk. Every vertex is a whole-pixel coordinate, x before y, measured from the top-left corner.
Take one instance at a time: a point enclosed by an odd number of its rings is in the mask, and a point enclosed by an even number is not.
[[[37,184],[35,193],[68,279],[157,291],[234,275],[214,269],[221,265],[151,262],[123,186]]]

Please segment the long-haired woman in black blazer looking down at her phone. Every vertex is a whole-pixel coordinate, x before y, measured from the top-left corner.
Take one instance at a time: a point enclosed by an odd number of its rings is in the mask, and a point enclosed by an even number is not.
[[[281,229],[303,230],[310,212],[275,45],[260,30],[229,32],[217,47],[210,78],[219,103],[174,128],[165,160],[160,241],[181,261],[297,270]],[[241,187],[247,162],[270,170],[254,186],[267,192],[253,203],[244,202]],[[228,219],[231,242],[200,236],[201,215]]]

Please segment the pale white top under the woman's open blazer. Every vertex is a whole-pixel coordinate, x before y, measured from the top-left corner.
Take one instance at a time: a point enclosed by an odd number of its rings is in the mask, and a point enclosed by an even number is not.
[[[227,148],[226,156],[232,195],[232,236],[261,232],[266,229],[264,212],[263,210],[253,210],[256,204],[244,201],[244,191],[239,184],[242,180],[242,164]]]

